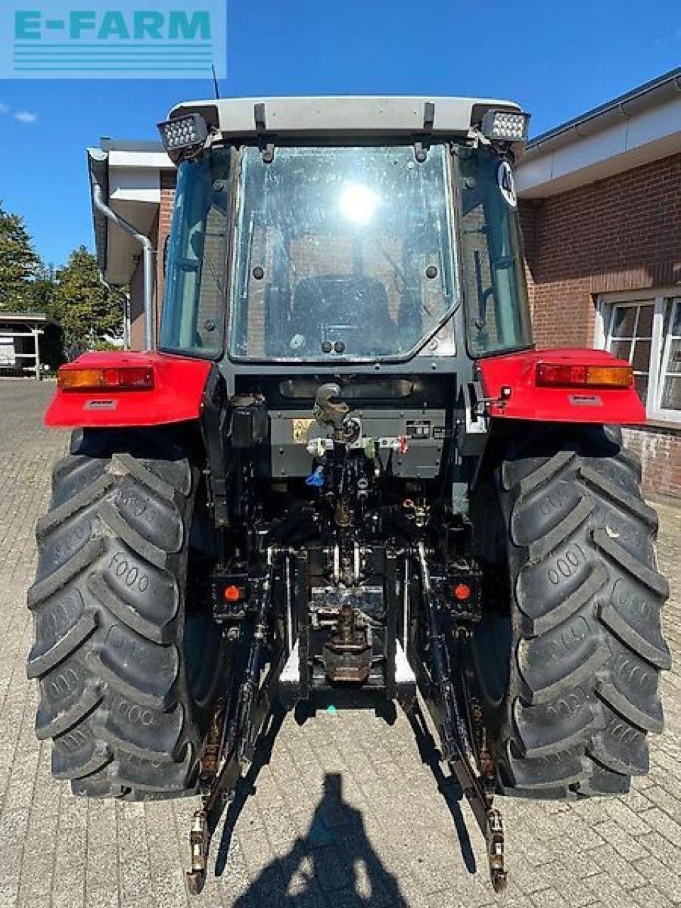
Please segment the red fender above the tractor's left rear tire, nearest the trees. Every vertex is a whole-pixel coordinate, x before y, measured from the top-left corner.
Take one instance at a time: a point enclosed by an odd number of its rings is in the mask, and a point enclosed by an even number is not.
[[[68,429],[160,426],[198,419],[212,362],[163,353],[84,353],[59,370],[140,367],[153,370],[153,388],[62,390],[57,388],[45,425]]]

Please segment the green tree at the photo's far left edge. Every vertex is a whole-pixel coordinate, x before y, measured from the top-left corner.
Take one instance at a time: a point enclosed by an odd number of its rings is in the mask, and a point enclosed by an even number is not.
[[[41,269],[24,220],[0,202],[0,309],[35,311],[32,282]]]

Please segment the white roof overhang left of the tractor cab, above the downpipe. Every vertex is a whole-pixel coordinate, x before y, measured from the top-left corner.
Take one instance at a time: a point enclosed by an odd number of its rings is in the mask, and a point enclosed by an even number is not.
[[[174,170],[161,144],[103,140],[100,148],[87,149],[87,159],[91,193],[98,184],[104,203],[149,235],[161,203],[161,174]],[[118,287],[130,283],[141,256],[139,244],[94,205],[93,223],[104,280]]]

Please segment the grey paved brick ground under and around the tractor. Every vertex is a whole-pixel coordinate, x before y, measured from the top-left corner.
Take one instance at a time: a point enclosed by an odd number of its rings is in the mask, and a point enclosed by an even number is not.
[[[0,380],[0,908],[173,908],[188,903],[183,868],[194,799],[75,800],[67,785],[51,780],[49,746],[33,734],[25,588],[33,574],[35,517],[46,506],[51,463],[66,448],[63,434],[40,425],[52,390]],[[659,511],[659,558],[678,590],[681,509],[663,504]],[[676,597],[666,609],[666,632],[678,656]],[[681,903],[677,666],[664,687],[666,733],[653,742],[651,775],[630,795],[580,804],[502,803],[511,870],[502,904]],[[302,727],[288,718],[252,788],[236,822],[228,817],[221,849],[217,836],[217,875],[192,900],[197,908],[495,903],[469,809],[421,762],[403,716],[392,726],[361,712],[323,714]]]

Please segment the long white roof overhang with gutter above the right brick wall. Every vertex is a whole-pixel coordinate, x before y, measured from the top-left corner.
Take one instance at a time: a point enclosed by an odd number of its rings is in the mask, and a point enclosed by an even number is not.
[[[681,69],[528,143],[518,194],[544,198],[681,150]]]

